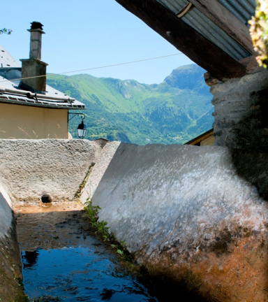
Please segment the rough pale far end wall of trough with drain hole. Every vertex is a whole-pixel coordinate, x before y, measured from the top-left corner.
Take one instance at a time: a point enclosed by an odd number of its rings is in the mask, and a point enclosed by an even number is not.
[[[87,140],[0,140],[0,183],[13,201],[73,199],[100,153]]]

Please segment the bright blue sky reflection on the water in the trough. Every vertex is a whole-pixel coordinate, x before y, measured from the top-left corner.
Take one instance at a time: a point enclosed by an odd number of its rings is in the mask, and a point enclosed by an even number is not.
[[[29,265],[26,254],[29,252],[22,252],[24,287],[30,298],[46,295],[66,302],[156,301],[136,280],[118,271],[112,254],[96,254],[85,247],[38,250],[34,266]]]

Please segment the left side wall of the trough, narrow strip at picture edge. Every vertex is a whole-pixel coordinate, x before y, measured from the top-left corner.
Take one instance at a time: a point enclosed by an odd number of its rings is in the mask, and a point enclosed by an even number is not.
[[[20,249],[8,194],[0,184],[0,301],[24,301]]]

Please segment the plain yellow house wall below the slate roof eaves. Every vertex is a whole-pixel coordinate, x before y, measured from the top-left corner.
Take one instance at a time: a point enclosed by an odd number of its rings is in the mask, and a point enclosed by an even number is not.
[[[68,138],[68,110],[0,103],[0,138]]]

